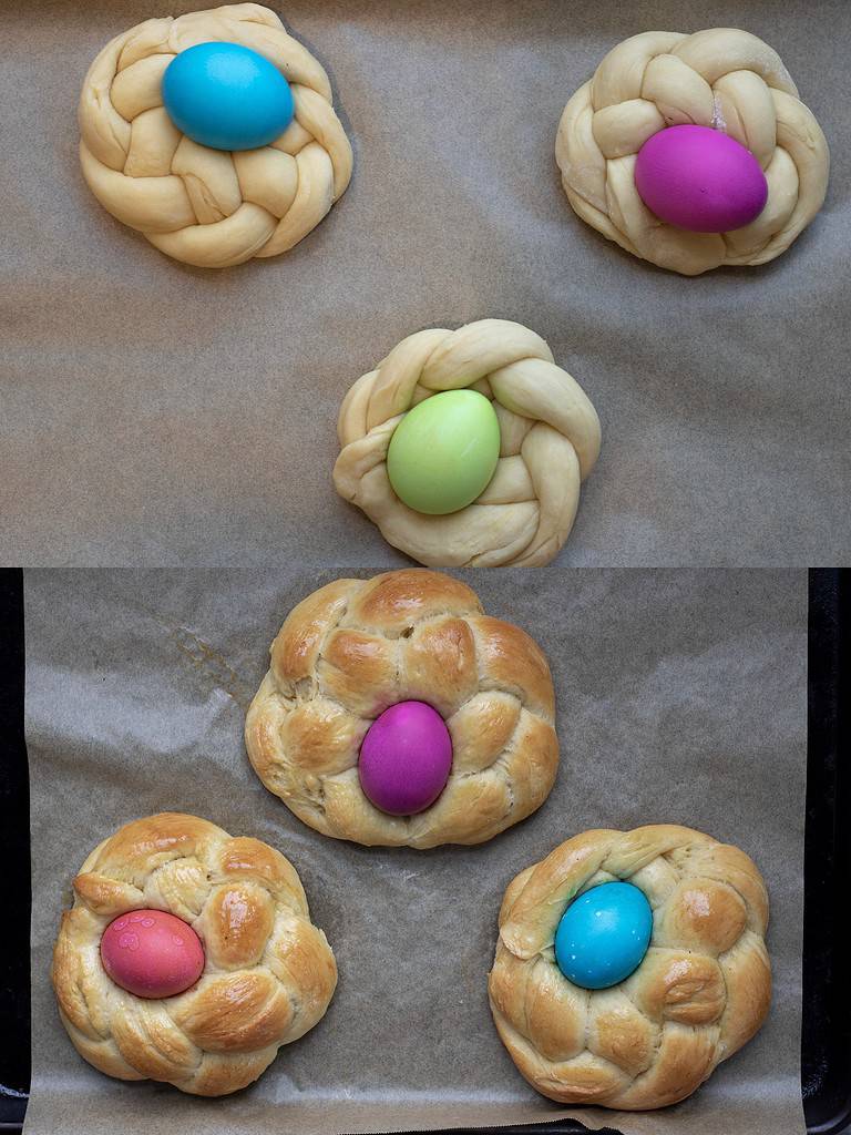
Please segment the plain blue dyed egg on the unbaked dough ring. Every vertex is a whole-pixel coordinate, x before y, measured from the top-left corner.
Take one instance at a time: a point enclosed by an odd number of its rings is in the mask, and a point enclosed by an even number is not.
[[[199,43],[175,56],[162,76],[175,126],[213,150],[255,150],[293,120],[293,92],[278,68],[238,43]]]

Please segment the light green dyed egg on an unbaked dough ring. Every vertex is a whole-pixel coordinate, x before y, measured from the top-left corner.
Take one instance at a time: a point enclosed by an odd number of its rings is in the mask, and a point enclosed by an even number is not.
[[[499,460],[499,422],[478,390],[445,390],[408,410],[387,449],[387,476],[408,508],[433,516],[464,508]]]

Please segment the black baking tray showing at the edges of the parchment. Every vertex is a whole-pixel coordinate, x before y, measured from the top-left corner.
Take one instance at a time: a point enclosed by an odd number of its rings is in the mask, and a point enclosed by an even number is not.
[[[809,579],[809,718],[801,1093],[811,1135],[851,1133],[851,571]],[[20,918],[0,934],[0,1129],[19,1132],[30,1087],[30,788],[24,741],[23,573],[0,570],[0,863]],[[47,975],[41,975],[47,980]],[[583,1132],[556,1121],[500,1128]],[[733,1135],[733,1133],[731,1133]],[[784,1135],[784,1133],[778,1133]]]

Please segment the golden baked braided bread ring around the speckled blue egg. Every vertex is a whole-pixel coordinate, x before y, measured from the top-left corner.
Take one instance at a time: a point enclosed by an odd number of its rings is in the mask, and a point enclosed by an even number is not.
[[[650,948],[620,985],[579,989],[556,965],[556,927],[574,896],[612,880],[647,896]],[[671,824],[583,832],[505,892],[489,978],[497,1032],[551,1100],[630,1111],[676,1103],[765,1020],[767,923],[765,884],[739,848]]]

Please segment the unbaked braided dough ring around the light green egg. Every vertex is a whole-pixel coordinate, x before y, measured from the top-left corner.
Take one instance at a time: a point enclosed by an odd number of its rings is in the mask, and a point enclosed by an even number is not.
[[[439,390],[472,387],[499,420],[496,472],[472,504],[447,516],[404,505],[387,477],[402,415]],[[600,451],[597,411],[534,331],[480,319],[457,331],[418,331],[359,378],[340,406],[334,484],[381,535],[432,568],[538,566],[570,535],[580,484]]]

